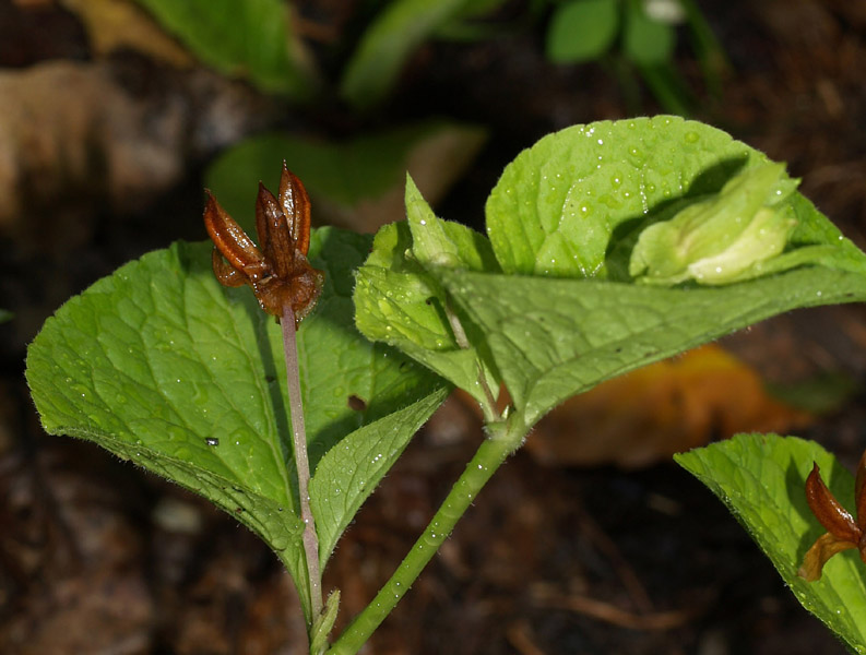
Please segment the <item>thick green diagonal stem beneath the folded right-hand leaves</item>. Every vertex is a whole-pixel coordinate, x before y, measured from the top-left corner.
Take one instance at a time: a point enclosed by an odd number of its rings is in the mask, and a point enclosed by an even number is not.
[[[327,655],[355,655],[420,575],[490,476],[525,437],[527,428],[517,420],[519,417],[512,415],[510,418],[507,422],[488,426],[487,438],[478,446],[475,456],[454,483],[412,550],[372,602],[334,642]]]

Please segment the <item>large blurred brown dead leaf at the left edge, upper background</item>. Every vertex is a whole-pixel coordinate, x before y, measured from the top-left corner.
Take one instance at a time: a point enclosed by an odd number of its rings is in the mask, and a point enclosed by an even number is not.
[[[127,88],[145,74],[143,90]],[[0,233],[73,248],[94,206],[141,211],[269,107],[209,71],[138,60],[0,71]]]

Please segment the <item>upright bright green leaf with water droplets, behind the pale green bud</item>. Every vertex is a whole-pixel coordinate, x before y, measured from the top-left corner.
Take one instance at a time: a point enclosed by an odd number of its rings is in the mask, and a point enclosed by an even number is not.
[[[767,162],[725,132],[678,117],[573,126],[509,164],[487,200],[487,235],[507,273],[629,281],[642,229]],[[797,221],[787,263],[866,271],[863,253],[808,200],[792,193],[783,204]]]

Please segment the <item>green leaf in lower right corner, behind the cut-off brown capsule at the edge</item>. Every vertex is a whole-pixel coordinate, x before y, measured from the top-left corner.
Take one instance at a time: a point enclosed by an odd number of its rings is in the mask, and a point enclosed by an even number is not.
[[[854,478],[820,445],[794,437],[738,434],[674,456],[737,517],[803,606],[856,653],[866,653],[866,569],[856,551],[830,559],[817,582],[796,572],[826,531],[806,503],[806,476],[817,463],[833,495],[854,510]]]

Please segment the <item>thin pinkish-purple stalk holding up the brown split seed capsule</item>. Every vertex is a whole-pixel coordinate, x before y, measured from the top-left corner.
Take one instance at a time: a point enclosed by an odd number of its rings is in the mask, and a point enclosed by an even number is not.
[[[300,374],[298,371],[298,346],[295,338],[295,312],[292,306],[283,306],[280,321],[283,327],[283,349],[286,355],[286,383],[288,405],[292,413],[292,438],[295,446],[295,465],[298,471],[298,496],[300,519],[304,521],[304,552],[307,559],[307,577],[310,594],[310,626],[322,614],[322,574],[319,567],[319,536],[310,510],[310,461],[307,456],[307,429],[304,426],[304,403],[300,398]]]

